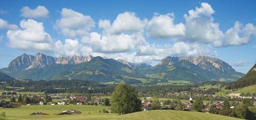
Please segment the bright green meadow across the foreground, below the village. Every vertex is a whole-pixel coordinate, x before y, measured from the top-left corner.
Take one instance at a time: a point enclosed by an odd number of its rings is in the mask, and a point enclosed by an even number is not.
[[[75,109],[80,110],[82,113],[79,115],[53,115],[53,113],[58,113],[60,110]],[[231,118],[228,116],[215,115],[210,113],[200,113],[200,112],[184,112],[177,110],[151,110],[145,112],[136,112],[126,115],[117,115],[115,113],[99,113],[102,109],[109,109],[109,107],[104,106],[78,106],[78,105],[69,105],[69,106],[22,106],[17,109],[2,109],[1,112],[5,112],[7,119],[17,119],[17,120],[26,120],[26,119],[50,119],[50,120],[66,120],[66,119],[77,119],[77,120],[87,120],[87,119],[175,119],[175,120],[235,120],[237,118]],[[30,116],[32,112],[44,112],[49,115],[45,116]]]

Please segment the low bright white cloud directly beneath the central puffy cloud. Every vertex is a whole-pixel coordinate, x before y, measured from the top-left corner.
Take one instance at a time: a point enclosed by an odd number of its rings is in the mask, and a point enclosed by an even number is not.
[[[135,49],[136,46],[145,44],[141,32],[132,35],[100,35],[97,32],[92,32],[89,37],[84,37],[82,41],[90,45],[96,52],[102,53],[129,52]]]

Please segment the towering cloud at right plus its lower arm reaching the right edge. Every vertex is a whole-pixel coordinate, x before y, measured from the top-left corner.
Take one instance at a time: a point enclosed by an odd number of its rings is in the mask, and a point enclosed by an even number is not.
[[[256,27],[251,23],[242,25],[235,22],[233,28],[223,32],[219,23],[215,23],[212,14],[215,13],[211,5],[203,2],[201,7],[189,10],[184,14],[186,20],[186,40],[198,43],[211,43],[216,47],[247,44],[256,36]]]

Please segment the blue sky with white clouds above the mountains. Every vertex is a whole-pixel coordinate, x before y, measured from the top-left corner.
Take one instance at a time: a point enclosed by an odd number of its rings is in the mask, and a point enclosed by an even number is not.
[[[93,55],[155,65],[211,56],[256,62],[256,1],[1,1],[0,68],[22,53]]]

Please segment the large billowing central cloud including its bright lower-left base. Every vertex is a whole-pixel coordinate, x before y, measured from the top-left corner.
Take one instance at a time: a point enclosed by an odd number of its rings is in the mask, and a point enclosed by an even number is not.
[[[82,42],[88,44],[96,52],[120,53],[134,50],[146,43],[144,38],[145,23],[135,13],[118,14],[111,24],[110,20],[99,20],[102,34],[91,32],[83,37]]]

